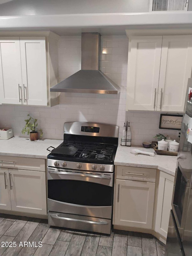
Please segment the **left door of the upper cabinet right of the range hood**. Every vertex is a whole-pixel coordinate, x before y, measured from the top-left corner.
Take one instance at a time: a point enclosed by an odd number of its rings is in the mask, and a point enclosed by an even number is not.
[[[126,110],[156,110],[162,38],[129,39]]]

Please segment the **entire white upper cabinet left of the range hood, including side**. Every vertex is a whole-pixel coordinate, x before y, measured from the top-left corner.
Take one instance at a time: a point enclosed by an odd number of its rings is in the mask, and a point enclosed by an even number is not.
[[[58,93],[49,90],[58,82],[57,39],[51,32],[0,37],[0,104],[58,104]]]

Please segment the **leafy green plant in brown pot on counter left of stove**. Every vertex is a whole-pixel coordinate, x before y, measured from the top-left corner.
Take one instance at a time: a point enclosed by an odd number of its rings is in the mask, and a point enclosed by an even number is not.
[[[34,119],[31,117],[29,114],[27,115],[29,119],[26,119],[26,125],[22,129],[22,134],[27,133],[28,135],[30,134],[30,140],[38,140],[38,132],[40,133],[40,138],[43,136],[43,131],[42,129],[38,129],[38,123],[37,119]]]

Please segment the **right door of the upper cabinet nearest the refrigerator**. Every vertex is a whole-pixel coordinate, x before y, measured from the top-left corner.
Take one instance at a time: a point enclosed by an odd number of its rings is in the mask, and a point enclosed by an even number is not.
[[[158,111],[183,112],[191,68],[192,36],[163,36]]]

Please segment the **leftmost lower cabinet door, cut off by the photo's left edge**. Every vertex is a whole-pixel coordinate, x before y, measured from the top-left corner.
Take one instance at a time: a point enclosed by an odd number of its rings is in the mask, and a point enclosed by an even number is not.
[[[8,169],[0,168],[0,209],[11,210]]]

